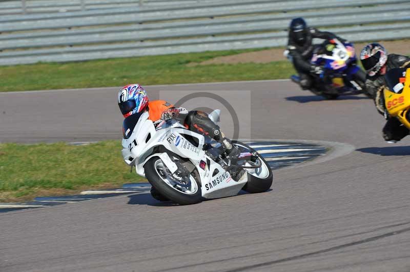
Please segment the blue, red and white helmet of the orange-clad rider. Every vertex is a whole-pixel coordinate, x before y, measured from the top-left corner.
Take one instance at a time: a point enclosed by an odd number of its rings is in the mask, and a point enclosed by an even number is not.
[[[124,117],[143,111],[147,105],[147,92],[139,84],[126,85],[118,92],[118,106]]]

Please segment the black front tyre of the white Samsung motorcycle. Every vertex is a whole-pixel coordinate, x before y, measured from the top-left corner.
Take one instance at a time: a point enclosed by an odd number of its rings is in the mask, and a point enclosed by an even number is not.
[[[180,205],[191,205],[202,201],[201,184],[195,178],[195,176],[199,178],[198,174],[192,175],[192,173],[190,173],[189,177],[191,183],[195,183],[192,184],[192,187],[195,187],[194,192],[184,193],[178,190],[176,186],[173,187],[166,182],[168,176],[161,176],[159,174],[159,163],[162,163],[161,158],[155,156],[150,158],[150,160],[144,165],[145,175],[148,181],[159,192],[159,194]],[[162,166],[165,167],[163,163]]]

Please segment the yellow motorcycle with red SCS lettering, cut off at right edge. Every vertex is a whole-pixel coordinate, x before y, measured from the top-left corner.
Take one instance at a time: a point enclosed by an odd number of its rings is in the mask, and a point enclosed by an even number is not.
[[[395,68],[384,76],[387,88],[384,88],[384,104],[391,117],[410,129],[410,68]]]

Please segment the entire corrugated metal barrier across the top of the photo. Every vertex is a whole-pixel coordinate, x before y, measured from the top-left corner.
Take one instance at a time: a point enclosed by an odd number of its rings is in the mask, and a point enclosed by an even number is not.
[[[0,16],[0,65],[284,46],[299,16],[352,41],[410,37],[408,0],[85,1],[83,11]],[[15,4],[0,2],[0,13]]]

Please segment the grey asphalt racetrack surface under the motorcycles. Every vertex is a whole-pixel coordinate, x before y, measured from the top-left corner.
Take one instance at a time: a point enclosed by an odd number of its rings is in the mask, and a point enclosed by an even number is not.
[[[248,91],[229,97],[250,108],[241,138],[335,149],[274,171],[261,194],[193,206],[131,194],[0,214],[0,271],[410,270],[409,139],[383,142],[372,101],[322,101],[289,81],[154,88],[169,100],[171,90]],[[0,94],[0,141],[118,139],[115,100],[116,88]]]

